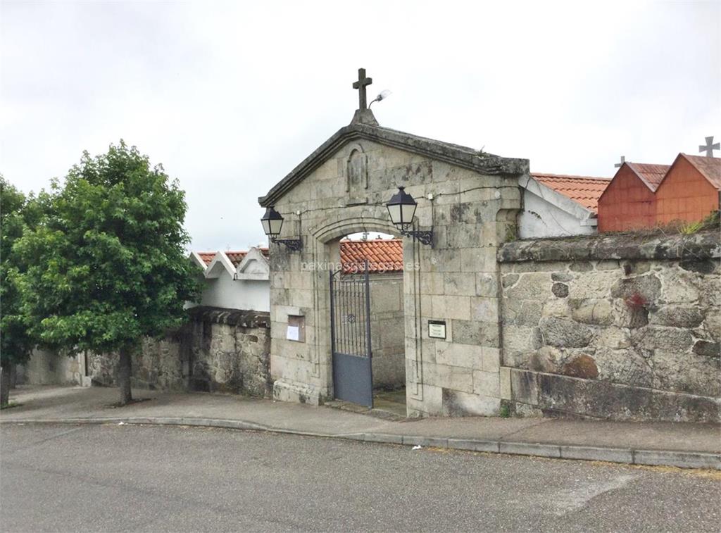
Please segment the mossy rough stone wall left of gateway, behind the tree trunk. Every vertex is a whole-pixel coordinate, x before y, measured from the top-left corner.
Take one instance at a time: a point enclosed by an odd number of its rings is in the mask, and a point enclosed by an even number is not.
[[[214,307],[188,309],[190,321],[133,356],[133,387],[270,395],[270,317]],[[89,355],[97,384],[115,384],[115,354]]]

